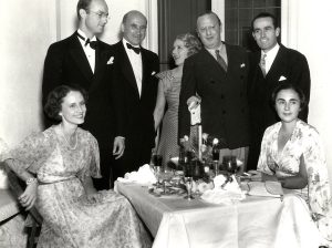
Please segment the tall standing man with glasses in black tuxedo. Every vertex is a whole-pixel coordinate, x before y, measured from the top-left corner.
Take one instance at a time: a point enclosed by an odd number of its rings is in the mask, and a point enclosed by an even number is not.
[[[75,84],[89,93],[83,128],[97,140],[103,178],[94,179],[97,189],[111,187],[111,166],[124,153],[122,85],[111,81],[112,48],[96,38],[104,30],[108,8],[104,0],[77,2],[79,29],[50,45],[44,62],[42,99],[60,84]]]

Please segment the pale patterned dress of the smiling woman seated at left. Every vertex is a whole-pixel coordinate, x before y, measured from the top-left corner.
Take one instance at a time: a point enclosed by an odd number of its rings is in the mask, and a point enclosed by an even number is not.
[[[43,217],[38,247],[151,247],[151,239],[126,198],[102,190],[86,198],[85,178],[100,176],[96,140],[77,128],[69,147],[54,127],[25,138],[9,158],[37,174],[37,209]]]

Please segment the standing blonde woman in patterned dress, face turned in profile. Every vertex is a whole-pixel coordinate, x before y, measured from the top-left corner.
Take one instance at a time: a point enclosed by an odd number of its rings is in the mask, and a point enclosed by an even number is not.
[[[157,103],[154,111],[155,130],[163,120],[160,141],[157,145],[157,154],[163,156],[163,164],[167,165],[170,157],[178,156],[178,104],[185,60],[200,49],[200,41],[190,33],[176,37],[173,45],[173,59],[177,65],[175,69],[157,74],[159,78]],[[167,111],[165,107],[167,104]],[[164,114],[165,113],[165,114]]]

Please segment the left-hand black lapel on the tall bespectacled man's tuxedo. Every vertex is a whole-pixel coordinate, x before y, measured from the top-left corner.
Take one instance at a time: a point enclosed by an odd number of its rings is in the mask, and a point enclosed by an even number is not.
[[[92,80],[93,72],[90,68],[89,61],[86,55],[83,51],[83,48],[79,41],[79,38],[73,34],[72,35],[72,45],[70,48],[70,53],[73,60],[76,62],[79,69],[81,70],[82,74],[89,80]]]

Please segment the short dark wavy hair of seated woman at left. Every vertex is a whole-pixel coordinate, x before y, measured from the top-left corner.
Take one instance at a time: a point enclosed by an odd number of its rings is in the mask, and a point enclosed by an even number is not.
[[[61,104],[63,103],[63,99],[70,93],[70,92],[80,92],[83,95],[83,99],[86,103],[87,101],[87,93],[84,89],[77,86],[77,85],[60,85],[55,87],[53,91],[51,91],[48,95],[46,103],[44,105],[44,112],[45,114],[56,121],[61,121],[61,116],[59,115],[61,111]]]

